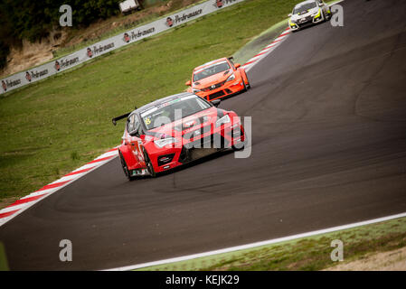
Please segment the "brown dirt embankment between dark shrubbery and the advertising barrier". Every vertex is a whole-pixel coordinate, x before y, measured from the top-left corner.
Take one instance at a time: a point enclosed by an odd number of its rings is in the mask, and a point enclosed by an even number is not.
[[[148,21],[153,17],[159,17],[172,11],[192,5],[201,0],[171,0],[165,3],[146,7],[128,15],[117,15],[106,20],[90,24],[89,27],[74,30],[65,28],[61,32],[53,32],[50,37],[41,42],[24,41],[21,48],[12,47],[7,57],[7,66],[0,70],[0,77],[28,70],[33,66],[40,65],[53,58],[53,51],[69,48],[81,42],[97,42],[103,35],[112,33],[118,29],[131,29],[139,23]]]

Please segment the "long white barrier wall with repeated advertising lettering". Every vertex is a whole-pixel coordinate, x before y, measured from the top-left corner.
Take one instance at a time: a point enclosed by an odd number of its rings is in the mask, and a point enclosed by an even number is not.
[[[56,61],[42,64],[33,70],[18,72],[0,80],[0,94],[21,88],[40,79],[46,79],[63,70],[68,70],[80,63],[90,61],[90,59],[97,58],[109,51],[114,51],[115,49],[131,42],[137,42],[156,33],[162,33],[165,30],[176,27],[177,25],[187,23],[191,20],[202,17],[203,15],[211,14],[214,11],[218,11],[219,9],[242,1],[244,0],[209,0],[200,5],[194,5],[190,8],[184,9],[181,12],[165,16],[165,18],[158,19],[152,23],[138,26],[129,30],[127,33],[122,33],[101,42],[94,43],[87,48],[61,57]]]

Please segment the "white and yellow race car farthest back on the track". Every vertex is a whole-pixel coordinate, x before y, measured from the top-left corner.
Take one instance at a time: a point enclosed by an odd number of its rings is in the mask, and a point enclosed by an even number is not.
[[[288,17],[290,29],[297,31],[304,26],[329,20],[331,11],[323,0],[307,0],[296,5]]]

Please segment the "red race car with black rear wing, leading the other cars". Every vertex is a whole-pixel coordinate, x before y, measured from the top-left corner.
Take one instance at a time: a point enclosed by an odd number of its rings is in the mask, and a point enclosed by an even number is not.
[[[233,111],[184,92],[156,100],[127,118],[122,143],[118,147],[124,173],[129,180],[139,175],[173,169],[208,154],[245,144],[240,117]]]

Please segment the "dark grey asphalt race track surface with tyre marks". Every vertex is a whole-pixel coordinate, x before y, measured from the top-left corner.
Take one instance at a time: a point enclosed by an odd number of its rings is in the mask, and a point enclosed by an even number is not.
[[[250,158],[135,182],[115,158],[0,228],[11,269],[128,266],[406,211],[406,2],[341,5],[344,27],[293,33],[222,102],[252,117]]]

